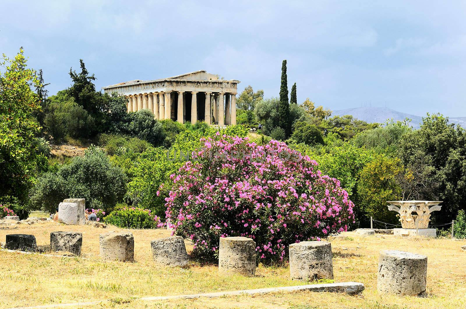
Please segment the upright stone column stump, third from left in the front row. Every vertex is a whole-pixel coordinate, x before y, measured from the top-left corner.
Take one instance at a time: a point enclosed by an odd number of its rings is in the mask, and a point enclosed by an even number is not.
[[[134,237],[130,232],[100,234],[100,256],[106,261],[134,261]]]

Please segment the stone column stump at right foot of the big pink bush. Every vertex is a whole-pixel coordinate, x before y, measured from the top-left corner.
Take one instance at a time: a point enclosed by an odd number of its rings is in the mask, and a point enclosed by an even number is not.
[[[298,242],[289,245],[292,280],[333,279],[330,242]]]

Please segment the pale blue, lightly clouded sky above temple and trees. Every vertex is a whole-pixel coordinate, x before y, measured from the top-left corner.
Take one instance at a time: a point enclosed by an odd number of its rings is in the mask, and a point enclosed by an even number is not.
[[[43,2],[43,3],[42,3]],[[205,69],[332,110],[466,116],[465,1],[1,0],[0,53],[23,46],[50,94],[82,58],[98,88]]]

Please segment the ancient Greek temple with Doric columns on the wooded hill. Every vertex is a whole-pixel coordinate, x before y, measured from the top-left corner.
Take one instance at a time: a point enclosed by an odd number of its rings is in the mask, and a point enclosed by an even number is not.
[[[236,94],[240,81],[221,80],[205,70],[153,81],[126,81],[103,87],[128,98],[128,112],[149,109],[155,119],[184,123],[236,124]]]

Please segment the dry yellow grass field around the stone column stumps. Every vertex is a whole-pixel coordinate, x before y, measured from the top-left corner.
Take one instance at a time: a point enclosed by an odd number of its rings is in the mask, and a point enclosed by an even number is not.
[[[147,302],[144,296],[165,296],[300,285],[290,281],[289,269],[260,265],[256,276],[218,275],[215,265],[191,263],[188,269],[165,268],[151,261],[150,241],[170,235],[166,230],[130,230],[135,238],[134,263],[99,260],[99,234],[126,229],[66,226],[55,222],[1,228],[7,234],[33,234],[47,246],[50,232],[78,231],[83,235],[83,257],[27,255],[0,250],[0,308],[102,300],[99,305],[71,308],[466,308],[466,241],[401,238],[392,235],[359,236],[345,233],[332,240],[336,282],[363,282],[361,295],[332,293],[275,293]],[[189,242],[186,242],[188,251]],[[378,252],[398,249],[428,256],[425,297],[379,296]]]

